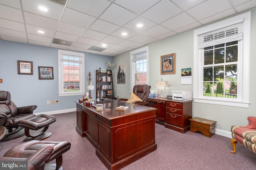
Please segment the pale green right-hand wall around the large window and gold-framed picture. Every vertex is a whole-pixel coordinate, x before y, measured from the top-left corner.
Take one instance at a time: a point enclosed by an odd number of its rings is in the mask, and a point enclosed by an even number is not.
[[[246,11],[247,12],[247,11]],[[256,79],[255,66],[256,63],[256,8],[251,10],[251,38],[250,38],[250,105],[249,108],[229,107],[222,105],[212,105],[204,103],[194,103],[192,106],[193,117],[201,117],[217,121],[216,133],[229,136],[231,125],[245,126],[248,124],[248,116],[256,116]],[[160,56],[175,53],[175,74],[161,75],[160,74]],[[193,75],[193,30],[183,32],[176,36],[160,40],[149,45],[149,85],[151,89],[157,93],[155,86],[156,81],[168,81],[170,87],[166,90],[164,95],[171,95],[173,90],[187,90],[193,93],[192,85],[181,84],[181,69],[192,68]],[[126,79],[126,84],[115,84],[115,91],[122,98],[130,96],[130,52],[123,53],[114,57],[114,63],[126,64],[126,72],[129,74]],[[122,90],[125,89],[125,90]],[[227,135],[226,135],[227,134]]]

